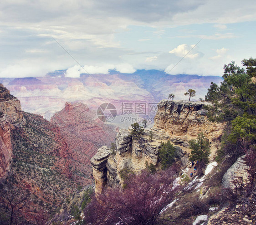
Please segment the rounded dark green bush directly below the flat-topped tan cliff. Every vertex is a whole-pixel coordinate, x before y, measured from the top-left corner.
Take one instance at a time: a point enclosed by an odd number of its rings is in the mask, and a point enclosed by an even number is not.
[[[163,170],[167,169],[174,162],[174,153],[175,148],[169,140],[166,143],[161,143],[161,147],[159,149],[159,159],[161,161],[161,168]]]

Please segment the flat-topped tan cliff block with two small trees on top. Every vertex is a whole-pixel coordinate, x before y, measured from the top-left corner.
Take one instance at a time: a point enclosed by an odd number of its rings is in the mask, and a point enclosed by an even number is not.
[[[183,147],[188,147],[188,141],[203,132],[209,139],[213,157],[225,125],[207,119],[204,105],[208,104],[210,103],[162,100],[158,103],[153,130],[165,133],[172,142]]]

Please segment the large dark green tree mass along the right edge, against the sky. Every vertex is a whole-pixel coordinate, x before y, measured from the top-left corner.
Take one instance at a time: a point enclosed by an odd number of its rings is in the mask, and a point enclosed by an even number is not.
[[[244,59],[242,64],[246,70],[235,62],[225,65],[224,81],[220,86],[211,83],[205,96],[213,104],[205,107],[209,119],[227,124],[224,154],[236,155],[235,159],[244,148],[256,145],[256,59]]]

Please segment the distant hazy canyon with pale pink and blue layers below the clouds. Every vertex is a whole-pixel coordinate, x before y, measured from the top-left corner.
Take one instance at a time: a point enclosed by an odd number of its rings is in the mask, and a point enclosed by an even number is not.
[[[92,110],[97,110],[102,103],[112,103],[120,116],[123,103],[133,106],[135,103],[157,104],[169,93],[174,93],[176,99],[186,99],[184,93],[189,88],[195,89],[195,100],[204,98],[211,81],[222,81],[220,77],[169,75],[159,70],[138,70],[132,74],[110,71],[109,74],[92,74],[92,77],[81,74],[79,78],[70,78],[66,77],[66,70],[61,70],[37,78],[0,78],[0,83],[20,100],[24,111],[50,120],[66,102],[81,102]],[[144,113],[138,115],[134,109],[128,115],[145,117]],[[154,113],[146,115],[154,117]],[[118,117],[112,123],[123,128],[131,124],[120,120]]]

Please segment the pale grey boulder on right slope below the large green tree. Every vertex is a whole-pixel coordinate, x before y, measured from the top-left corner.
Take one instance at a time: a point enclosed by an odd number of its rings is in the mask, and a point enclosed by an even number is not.
[[[225,172],[222,178],[222,187],[234,189],[234,181],[239,183],[243,181],[243,185],[248,182],[248,166],[246,165],[245,156],[239,157],[236,162],[230,166],[230,168]]]

